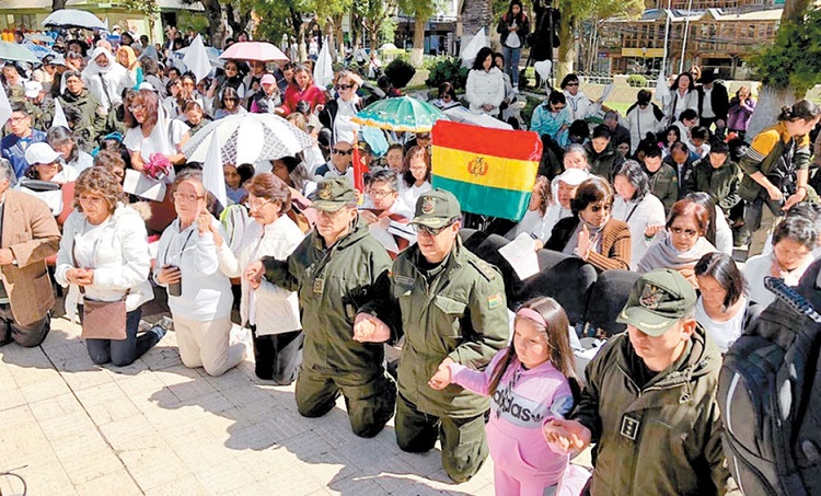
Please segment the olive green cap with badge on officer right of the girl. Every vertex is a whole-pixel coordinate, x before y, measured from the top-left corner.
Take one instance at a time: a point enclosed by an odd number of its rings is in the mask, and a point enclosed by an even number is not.
[[[696,298],[693,285],[677,270],[652,270],[633,285],[616,322],[633,325],[648,336],[660,336],[692,313]]]

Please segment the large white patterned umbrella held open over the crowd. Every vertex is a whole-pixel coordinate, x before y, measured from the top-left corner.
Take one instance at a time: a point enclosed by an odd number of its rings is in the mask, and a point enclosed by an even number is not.
[[[188,161],[205,162],[215,134],[222,145],[222,161],[233,164],[293,157],[313,145],[310,136],[278,115],[231,115],[207,125],[185,143]]]

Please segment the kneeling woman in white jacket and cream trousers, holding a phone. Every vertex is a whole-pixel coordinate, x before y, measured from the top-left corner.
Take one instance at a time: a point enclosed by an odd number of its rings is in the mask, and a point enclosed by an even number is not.
[[[176,175],[172,197],[177,218],[160,238],[154,281],[169,289],[180,357],[188,368],[203,367],[221,376],[245,359],[244,343],[230,344],[231,280],[220,267],[220,251],[229,258],[222,224],[206,208],[203,173]]]

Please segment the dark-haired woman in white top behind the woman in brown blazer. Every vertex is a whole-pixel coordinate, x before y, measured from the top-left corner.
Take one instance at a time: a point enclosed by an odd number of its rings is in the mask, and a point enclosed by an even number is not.
[[[650,193],[650,180],[635,160],[627,160],[613,177],[616,197],[613,218],[631,229],[631,270],[636,270],[659,231],[664,230],[664,205]]]

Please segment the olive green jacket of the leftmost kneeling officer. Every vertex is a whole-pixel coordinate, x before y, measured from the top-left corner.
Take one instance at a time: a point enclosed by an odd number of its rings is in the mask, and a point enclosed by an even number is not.
[[[350,232],[325,246],[311,231],[287,261],[263,258],[265,277],[297,291],[305,333],[302,367],[326,376],[382,374],[384,346],[354,341],[354,319],[373,299],[373,284],[391,257],[359,220]]]

